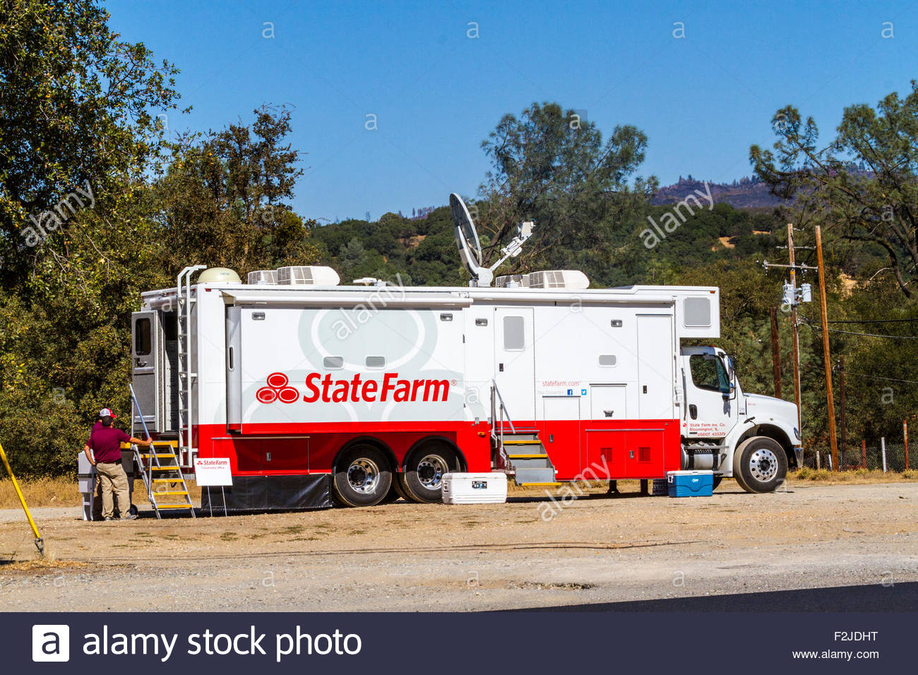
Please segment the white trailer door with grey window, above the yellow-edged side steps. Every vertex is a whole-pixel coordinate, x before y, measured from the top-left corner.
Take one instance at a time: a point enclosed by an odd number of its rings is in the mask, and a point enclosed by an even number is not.
[[[532,308],[494,309],[494,380],[510,419],[535,421],[535,330]]]

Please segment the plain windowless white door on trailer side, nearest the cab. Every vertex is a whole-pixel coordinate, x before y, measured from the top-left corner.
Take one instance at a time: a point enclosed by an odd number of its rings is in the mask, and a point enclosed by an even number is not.
[[[637,316],[638,416],[642,420],[672,420],[673,317],[667,314]]]

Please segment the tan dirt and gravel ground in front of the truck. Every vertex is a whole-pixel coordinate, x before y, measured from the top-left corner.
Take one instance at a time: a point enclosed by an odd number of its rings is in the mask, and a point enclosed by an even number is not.
[[[0,512],[0,610],[491,610],[918,580],[918,484],[126,523]],[[737,602],[743,602],[742,599]],[[755,609],[755,607],[737,607]]]

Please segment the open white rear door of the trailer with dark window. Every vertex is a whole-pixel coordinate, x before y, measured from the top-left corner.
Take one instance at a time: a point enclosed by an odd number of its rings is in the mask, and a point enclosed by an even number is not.
[[[134,411],[133,427],[142,429],[140,413],[147,431],[160,431],[162,393],[162,336],[157,311],[131,314],[131,379],[140,411]]]

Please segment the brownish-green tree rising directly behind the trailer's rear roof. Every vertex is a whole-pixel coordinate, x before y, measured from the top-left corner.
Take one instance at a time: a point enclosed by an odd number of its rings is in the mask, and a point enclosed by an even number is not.
[[[254,116],[251,127],[240,122],[172,145],[155,186],[157,240],[170,269],[204,263],[245,274],[316,259],[308,243],[316,223],[288,203],[303,173],[299,152],[284,142],[290,112],[262,107]]]

